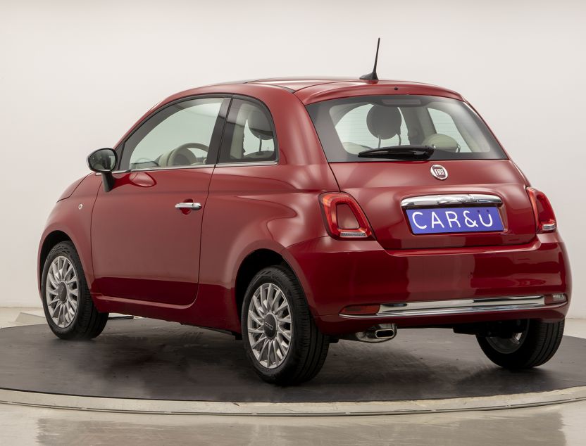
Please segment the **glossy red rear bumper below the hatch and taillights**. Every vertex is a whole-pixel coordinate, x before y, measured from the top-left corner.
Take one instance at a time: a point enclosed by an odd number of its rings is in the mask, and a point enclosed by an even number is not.
[[[285,257],[304,286],[316,323],[329,334],[391,322],[408,327],[556,321],[566,316],[571,299],[568,258],[557,233],[518,246],[393,251],[376,241],[323,237],[289,246]],[[540,300],[554,294],[565,294],[567,301]],[[519,297],[533,300],[504,305]],[[487,299],[499,305],[487,305]],[[341,314],[350,305],[382,307],[375,314]],[[411,311],[404,311],[408,307]]]

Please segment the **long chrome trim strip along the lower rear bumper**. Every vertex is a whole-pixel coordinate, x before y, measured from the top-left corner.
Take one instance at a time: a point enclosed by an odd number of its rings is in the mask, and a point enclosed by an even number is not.
[[[351,319],[371,319],[373,317],[403,316],[437,316],[444,314],[466,314],[475,312],[502,312],[527,310],[528,308],[559,307],[546,305],[544,295],[526,295],[507,298],[476,298],[457,300],[428,300],[424,302],[399,302],[380,305],[377,314],[339,314],[340,317]]]

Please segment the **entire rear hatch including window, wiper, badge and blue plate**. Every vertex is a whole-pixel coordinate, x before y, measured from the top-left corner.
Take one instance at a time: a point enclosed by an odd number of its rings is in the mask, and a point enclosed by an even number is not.
[[[356,199],[384,248],[518,245],[535,237],[526,181],[468,103],[441,91],[373,89],[384,94],[307,110],[340,191]]]

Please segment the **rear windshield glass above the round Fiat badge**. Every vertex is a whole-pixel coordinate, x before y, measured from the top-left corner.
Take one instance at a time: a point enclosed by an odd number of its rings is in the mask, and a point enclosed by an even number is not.
[[[410,145],[434,148],[430,160],[506,158],[480,117],[456,99],[359,96],[313,103],[307,110],[330,163],[381,161],[358,154]]]

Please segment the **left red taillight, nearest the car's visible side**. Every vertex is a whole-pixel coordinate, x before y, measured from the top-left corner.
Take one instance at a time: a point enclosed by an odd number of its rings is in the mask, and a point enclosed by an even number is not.
[[[347,193],[322,193],[320,203],[330,236],[344,240],[373,238],[366,215]]]

